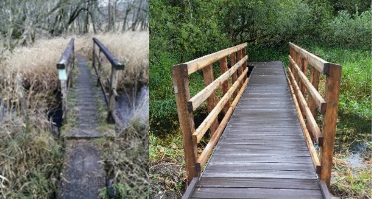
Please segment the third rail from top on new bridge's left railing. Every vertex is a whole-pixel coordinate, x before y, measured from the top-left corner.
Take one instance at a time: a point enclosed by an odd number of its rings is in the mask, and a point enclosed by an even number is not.
[[[207,132],[207,129],[212,125],[213,121],[218,117],[218,114],[221,112],[222,108],[225,106],[226,102],[233,95],[233,92],[238,89],[240,83],[242,82],[244,75],[246,75],[248,69],[246,69],[243,74],[238,78],[238,80],[233,84],[229,91],[221,98],[213,110],[208,114],[204,121],[193,133],[195,143],[199,143],[204,134]]]

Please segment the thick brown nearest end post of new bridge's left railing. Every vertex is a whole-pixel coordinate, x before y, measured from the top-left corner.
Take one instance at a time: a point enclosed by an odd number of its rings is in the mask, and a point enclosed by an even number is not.
[[[194,116],[187,108],[187,101],[190,100],[189,79],[187,65],[176,65],[172,67],[172,81],[178,119],[182,132],[183,151],[185,153],[186,169],[189,182],[194,177],[199,177],[200,173],[195,166],[198,160],[197,144],[193,142],[192,134],[195,132]]]

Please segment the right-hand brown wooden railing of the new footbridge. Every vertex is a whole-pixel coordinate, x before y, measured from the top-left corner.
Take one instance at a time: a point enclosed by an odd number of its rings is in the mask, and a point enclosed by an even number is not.
[[[289,42],[288,79],[293,100],[310,151],[314,168],[321,181],[329,188],[336,133],[337,108],[339,102],[341,66],[329,63],[320,57]],[[308,80],[310,65],[310,80]],[[325,97],[319,93],[319,77],[326,76]],[[308,96],[308,102],[306,101]],[[316,123],[319,111],[323,115],[322,130]],[[306,120],[305,120],[306,119]],[[320,147],[320,160],[313,140]]]

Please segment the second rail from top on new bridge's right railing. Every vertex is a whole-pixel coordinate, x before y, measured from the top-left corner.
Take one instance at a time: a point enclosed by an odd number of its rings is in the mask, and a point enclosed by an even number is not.
[[[294,63],[294,60],[291,56],[288,56],[289,61],[291,62],[294,71],[296,72],[297,76],[302,82],[302,85],[307,89],[309,92],[309,96],[315,101],[315,104],[320,112],[324,113],[326,110],[326,101],[322,98],[322,96],[318,93],[318,91],[314,88],[314,86],[310,83],[310,81],[307,79],[305,74],[302,73],[302,70],[300,67]],[[301,92],[304,94],[304,92]]]

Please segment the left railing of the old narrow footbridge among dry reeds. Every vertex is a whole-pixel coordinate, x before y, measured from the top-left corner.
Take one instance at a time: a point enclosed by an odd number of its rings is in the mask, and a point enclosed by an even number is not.
[[[68,92],[71,85],[72,80],[72,71],[74,69],[74,63],[75,63],[75,47],[74,47],[74,41],[75,39],[72,38],[70,42],[68,43],[65,51],[62,53],[61,58],[59,59],[57,63],[57,69],[58,69],[58,76],[59,81],[61,83],[61,94],[62,94],[62,119],[63,122],[67,122],[67,113],[68,113],[68,107],[67,107],[67,98],[68,98]]]

